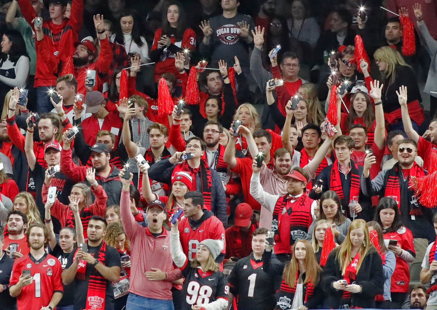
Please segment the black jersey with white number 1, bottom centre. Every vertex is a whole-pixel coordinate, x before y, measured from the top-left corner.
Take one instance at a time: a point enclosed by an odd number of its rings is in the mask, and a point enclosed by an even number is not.
[[[253,253],[239,259],[228,276],[229,292],[238,310],[267,310],[275,306],[275,283],[278,277],[264,272],[262,259]]]

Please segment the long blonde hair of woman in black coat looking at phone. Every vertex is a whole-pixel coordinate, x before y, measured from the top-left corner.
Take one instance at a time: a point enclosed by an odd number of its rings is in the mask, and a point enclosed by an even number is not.
[[[349,262],[354,259],[350,256],[350,251],[352,250],[352,242],[350,241],[350,232],[354,229],[362,228],[364,231],[364,241],[363,245],[360,247],[360,261],[358,262],[357,266],[357,272],[361,268],[361,264],[364,261],[364,257],[368,254],[369,250],[371,248],[375,248],[372,243],[369,240],[369,231],[367,229],[367,223],[365,220],[354,220],[352,223],[350,223],[349,230],[347,231],[346,239],[343,241],[343,243],[340,245],[340,250],[337,252],[336,260],[338,261],[338,264],[340,265],[341,274],[344,275],[346,272],[346,267],[349,265]],[[347,262],[347,263],[345,263]]]

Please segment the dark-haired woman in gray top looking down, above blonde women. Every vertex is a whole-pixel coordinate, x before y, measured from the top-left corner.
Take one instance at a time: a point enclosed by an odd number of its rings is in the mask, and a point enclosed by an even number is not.
[[[347,231],[350,226],[350,219],[345,217],[341,210],[340,198],[333,190],[328,190],[320,197],[319,206],[321,212],[319,220],[326,220],[326,224],[331,226],[334,235],[334,241],[338,244],[342,243],[347,236]],[[311,241],[312,231],[315,229],[316,221],[313,221],[308,228],[306,239]]]

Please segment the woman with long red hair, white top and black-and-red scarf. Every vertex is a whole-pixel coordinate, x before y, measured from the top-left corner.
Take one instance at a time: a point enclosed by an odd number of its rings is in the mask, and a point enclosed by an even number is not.
[[[263,269],[272,275],[282,276],[275,309],[317,309],[323,299],[320,288],[322,268],[311,243],[305,239],[297,241],[291,248],[291,261],[285,265],[271,257],[272,248],[266,241]]]

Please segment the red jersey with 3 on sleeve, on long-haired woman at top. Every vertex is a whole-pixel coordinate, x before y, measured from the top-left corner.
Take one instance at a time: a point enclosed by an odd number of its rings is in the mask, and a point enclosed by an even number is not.
[[[158,41],[160,41],[162,32],[163,28],[156,30],[151,51],[158,48]],[[182,41],[176,42],[176,37],[170,37],[170,42],[171,44],[176,45],[178,48],[194,51],[194,49],[196,49],[196,34],[194,33],[193,29],[187,28],[184,32]],[[167,72],[173,73],[175,76],[179,76],[179,73],[174,66],[174,54],[170,52],[168,48],[164,48],[163,53],[160,56],[160,60],[155,64],[155,83],[158,82],[163,73]]]

